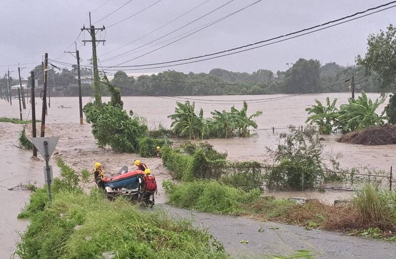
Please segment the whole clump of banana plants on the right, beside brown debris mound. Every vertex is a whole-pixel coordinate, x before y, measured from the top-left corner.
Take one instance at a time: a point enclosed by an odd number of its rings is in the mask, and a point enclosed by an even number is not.
[[[330,104],[327,97],[327,107],[315,99],[317,105],[306,108],[308,117],[306,122],[315,124],[323,134],[330,134],[335,129],[342,130],[343,133],[364,129],[368,127],[377,127],[385,124],[388,117],[378,115],[375,111],[384,103],[385,97],[380,97],[373,102],[362,92],[357,99],[349,98],[348,104],[341,105],[340,109],[335,107],[336,100]],[[391,108],[389,108],[391,109]]]

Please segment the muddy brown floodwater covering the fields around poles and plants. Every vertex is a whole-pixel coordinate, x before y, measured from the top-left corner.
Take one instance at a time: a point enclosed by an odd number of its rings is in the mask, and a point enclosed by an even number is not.
[[[260,99],[272,98],[283,95],[261,95],[261,96],[205,96],[192,97],[208,100],[225,100],[227,104],[199,104],[196,103],[196,109],[203,108],[205,116],[210,116],[213,110],[229,109],[231,101],[235,99]],[[304,125],[306,119],[305,108],[314,103],[317,98],[325,101],[329,96],[331,99],[338,98],[338,105],[347,103],[348,93],[331,93],[331,94],[307,94],[295,98],[283,99],[277,101],[267,101],[261,103],[249,104],[248,111],[254,112],[260,110],[263,115],[257,119],[259,129],[284,128],[288,125]],[[368,94],[370,98],[377,98],[379,94]],[[90,98],[84,97],[83,103],[87,103]],[[108,101],[104,97],[103,101]],[[174,112],[175,101],[168,99],[158,99],[155,97],[123,97],[124,108],[133,110],[135,114],[146,117],[150,128],[157,127],[160,123],[170,126],[168,115]],[[41,100],[36,98],[38,119],[41,116]],[[216,101],[218,103],[219,101]],[[19,118],[19,107],[16,102],[10,106],[4,100],[0,100],[0,117]],[[242,104],[236,104],[240,109]],[[378,112],[384,108],[382,105]],[[29,108],[23,110],[23,118],[30,119]],[[20,183],[37,182],[42,185],[44,182],[43,166],[44,160],[31,158],[31,151],[18,149],[11,142],[17,141],[17,136],[22,129],[22,125],[10,123],[0,123],[0,163],[1,163],[1,180],[0,185],[4,187],[13,187]],[[40,129],[38,127],[38,129]],[[276,130],[276,134],[285,131],[285,129]],[[28,134],[31,133],[31,126],[27,128]],[[278,136],[272,134],[272,129],[258,130],[257,136],[251,138],[230,138],[230,139],[210,139],[215,148],[220,151],[226,151],[228,158],[231,160],[259,160],[265,161],[268,156],[265,151],[266,146],[275,147],[279,142]],[[91,170],[96,161],[102,162],[105,167],[107,176],[114,175],[123,165],[134,168],[133,161],[142,159],[148,164],[159,182],[159,194],[156,196],[156,202],[165,202],[165,195],[161,189],[160,182],[170,178],[169,172],[162,166],[160,159],[141,158],[136,154],[120,154],[109,149],[99,148],[91,133],[91,126],[85,123],[79,125],[79,111],[77,97],[52,97],[51,107],[48,109],[46,135],[59,135],[60,140],[56,147],[55,153],[51,158],[50,164],[54,166],[56,157],[61,157],[80,172],[83,169]],[[324,136],[326,141],[325,151],[334,154],[341,153],[341,166],[354,167],[370,165],[375,169],[389,170],[396,158],[396,145],[387,146],[362,146],[336,142],[337,136]],[[58,169],[54,170],[55,176]],[[93,182],[88,184],[92,186]],[[23,231],[27,225],[26,221],[17,220],[16,216],[28,201],[29,192],[26,191],[7,191],[0,188],[0,253],[4,258],[9,257],[15,250],[15,242],[18,240],[17,231]],[[305,193],[276,193],[277,197],[293,196],[312,196],[319,197],[325,201],[332,202],[336,198],[345,198],[350,193],[345,192],[326,192],[325,194]],[[320,195],[320,196],[317,196]],[[3,257],[2,256],[2,257]]]

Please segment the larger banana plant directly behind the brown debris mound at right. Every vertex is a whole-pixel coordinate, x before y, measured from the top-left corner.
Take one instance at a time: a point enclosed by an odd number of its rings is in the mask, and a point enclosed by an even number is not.
[[[359,98],[349,98],[348,104],[340,107],[338,125],[343,132],[354,131],[367,127],[375,127],[385,124],[388,117],[378,115],[375,111],[385,102],[385,97],[376,99],[375,102],[362,92]]]

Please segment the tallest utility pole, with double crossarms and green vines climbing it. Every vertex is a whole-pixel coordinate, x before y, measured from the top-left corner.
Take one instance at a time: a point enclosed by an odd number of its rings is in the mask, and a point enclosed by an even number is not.
[[[85,26],[83,26],[83,28],[81,28],[81,31],[86,30],[90,33],[91,35],[91,40],[87,41],[87,40],[83,40],[84,42],[84,46],[86,42],[92,42],[92,62],[94,65],[94,87],[95,87],[95,104],[96,105],[100,105],[101,104],[101,97],[100,97],[100,89],[99,89],[99,71],[98,71],[98,57],[97,57],[97,53],[96,53],[96,43],[97,42],[104,42],[105,40],[97,40],[96,39],[96,31],[100,30],[103,31],[104,30],[104,26],[102,28],[95,28],[94,25],[91,25],[91,12],[90,12],[90,28],[85,28]]]

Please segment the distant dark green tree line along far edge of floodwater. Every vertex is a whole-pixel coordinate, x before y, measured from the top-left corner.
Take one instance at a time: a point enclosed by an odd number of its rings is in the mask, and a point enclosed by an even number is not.
[[[39,84],[42,84],[41,65],[36,66],[34,70],[38,74]],[[57,95],[75,96],[78,94],[76,74],[75,66],[71,70],[51,69],[48,71],[48,84],[54,85],[56,89],[59,86],[68,86],[58,91]],[[81,74],[83,78],[90,77],[92,70],[84,67]],[[347,80],[352,75],[358,92],[380,92],[381,89],[387,88],[387,83],[376,72],[368,72],[362,65],[345,67],[334,62],[321,65],[319,61],[312,59],[299,59],[288,70],[277,71],[276,74],[266,69],[247,73],[214,68],[209,73],[167,70],[152,75],[131,77],[124,71],[117,71],[110,82],[120,86],[121,94],[124,96],[145,95],[144,92],[161,95],[255,95],[311,91],[347,92],[347,82],[337,83]],[[83,84],[82,93],[84,96],[91,96],[94,89],[90,84]],[[109,95],[104,84],[102,95]]]

